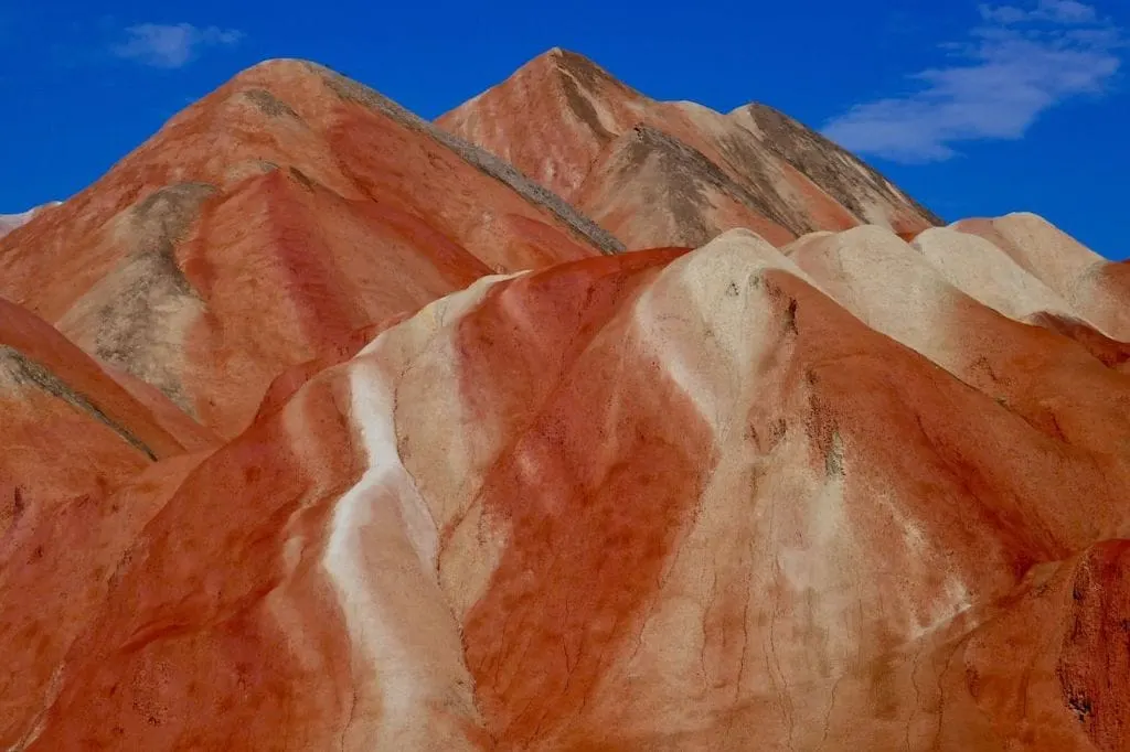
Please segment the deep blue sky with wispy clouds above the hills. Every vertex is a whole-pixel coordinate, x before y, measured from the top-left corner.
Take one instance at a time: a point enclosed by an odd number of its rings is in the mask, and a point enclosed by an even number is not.
[[[657,98],[775,106],[947,220],[1035,211],[1130,256],[1124,0],[18,5],[0,5],[0,213],[81,190],[267,58],[432,117],[557,45]]]

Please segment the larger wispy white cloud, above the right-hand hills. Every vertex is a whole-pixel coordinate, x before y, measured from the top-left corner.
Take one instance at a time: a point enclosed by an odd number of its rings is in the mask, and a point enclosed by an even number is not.
[[[1019,139],[1051,107],[1101,95],[1121,64],[1122,29],[1076,0],[982,5],[953,64],[912,75],[918,90],[855,105],[824,126],[847,149],[895,161],[949,159],[954,145]]]

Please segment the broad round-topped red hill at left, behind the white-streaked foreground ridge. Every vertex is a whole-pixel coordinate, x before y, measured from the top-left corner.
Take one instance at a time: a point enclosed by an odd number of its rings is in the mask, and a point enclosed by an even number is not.
[[[272,61],[0,239],[0,295],[231,437],[275,375],[355,329],[487,273],[619,250],[510,165]]]

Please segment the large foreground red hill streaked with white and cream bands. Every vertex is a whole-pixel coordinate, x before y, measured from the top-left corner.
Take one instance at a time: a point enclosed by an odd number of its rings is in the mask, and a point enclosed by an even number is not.
[[[0,743],[1127,749],[1110,266],[1014,216],[485,277],[25,515],[75,544],[2,570]]]

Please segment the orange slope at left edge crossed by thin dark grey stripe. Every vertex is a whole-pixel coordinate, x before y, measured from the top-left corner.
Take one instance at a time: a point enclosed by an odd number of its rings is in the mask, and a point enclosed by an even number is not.
[[[148,522],[154,483],[169,472],[156,469],[183,462],[157,461],[219,439],[0,299],[0,738],[10,746]]]

